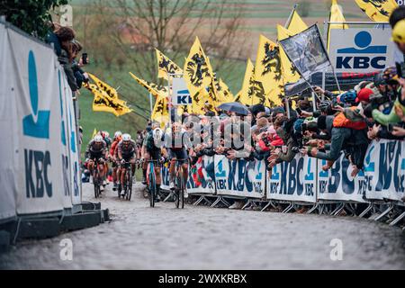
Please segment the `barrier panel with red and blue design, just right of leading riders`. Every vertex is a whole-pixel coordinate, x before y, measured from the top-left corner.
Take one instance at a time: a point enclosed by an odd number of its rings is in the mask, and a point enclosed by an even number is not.
[[[207,172],[207,167],[211,167],[214,173],[214,157],[200,157],[194,166],[188,169],[187,192],[190,194],[215,194],[215,183]]]

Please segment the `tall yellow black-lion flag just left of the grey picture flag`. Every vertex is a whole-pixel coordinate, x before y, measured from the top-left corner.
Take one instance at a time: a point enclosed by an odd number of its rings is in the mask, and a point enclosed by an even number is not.
[[[258,87],[257,84],[260,83],[260,89],[264,89],[264,96],[267,99],[265,102],[260,99],[259,103],[265,105],[279,105],[282,103],[284,79],[280,48],[275,42],[263,35],[260,35],[257,49],[254,83],[254,87]],[[253,102],[256,103],[257,100],[253,99]]]

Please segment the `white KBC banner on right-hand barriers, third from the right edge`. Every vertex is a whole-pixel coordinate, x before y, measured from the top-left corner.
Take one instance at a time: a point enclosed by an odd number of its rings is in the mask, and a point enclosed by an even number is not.
[[[293,202],[317,202],[317,160],[296,156],[291,162],[273,167],[267,179],[267,199]]]

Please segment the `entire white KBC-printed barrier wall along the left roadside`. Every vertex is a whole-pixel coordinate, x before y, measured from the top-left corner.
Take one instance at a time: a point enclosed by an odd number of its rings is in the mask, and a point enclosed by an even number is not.
[[[63,68],[53,49],[14,28],[4,29],[3,23],[0,48],[0,128],[7,140],[1,143],[5,192],[0,218],[15,211],[71,208],[81,198],[79,151],[72,92]]]

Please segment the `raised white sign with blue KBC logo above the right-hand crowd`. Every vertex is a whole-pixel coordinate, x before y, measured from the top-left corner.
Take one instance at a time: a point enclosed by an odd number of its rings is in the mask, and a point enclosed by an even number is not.
[[[335,71],[367,73],[394,65],[391,34],[388,27],[332,29],[329,58]]]

